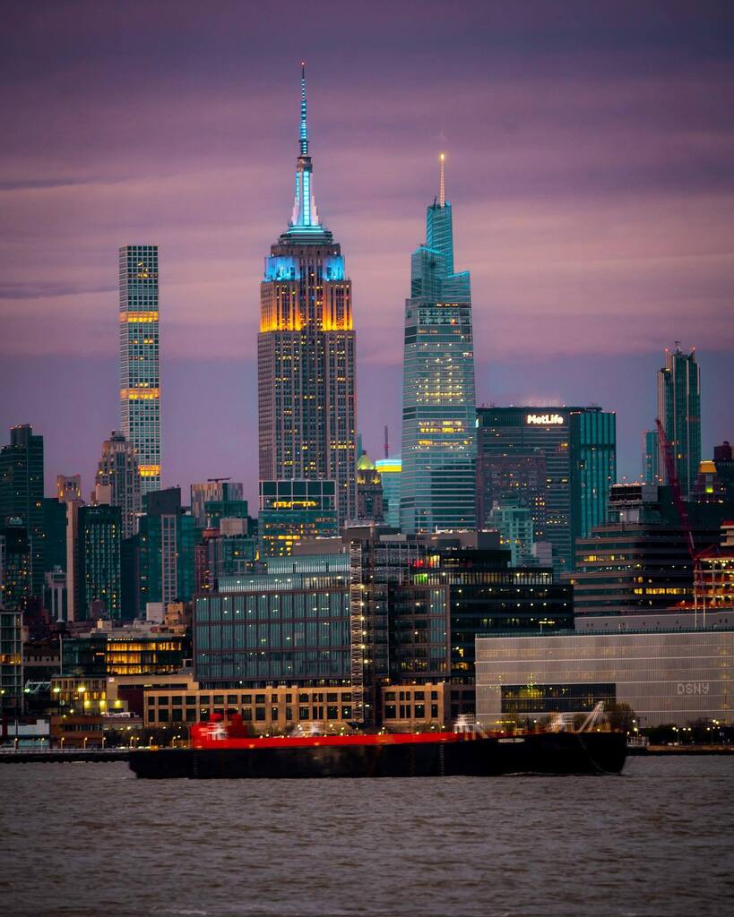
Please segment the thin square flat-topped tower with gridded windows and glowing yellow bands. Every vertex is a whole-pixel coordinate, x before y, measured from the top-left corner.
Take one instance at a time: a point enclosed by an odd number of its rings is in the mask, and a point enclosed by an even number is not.
[[[119,282],[120,422],[147,493],[161,488],[158,246],[123,246]]]

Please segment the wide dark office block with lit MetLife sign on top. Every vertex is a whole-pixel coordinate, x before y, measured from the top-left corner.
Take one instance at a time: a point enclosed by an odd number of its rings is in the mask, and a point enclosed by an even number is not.
[[[487,486],[494,457],[542,456],[546,464],[545,531],[553,569],[573,569],[574,541],[606,521],[617,481],[616,415],[600,407],[481,407],[477,409],[477,492]],[[484,519],[478,520],[480,525]]]

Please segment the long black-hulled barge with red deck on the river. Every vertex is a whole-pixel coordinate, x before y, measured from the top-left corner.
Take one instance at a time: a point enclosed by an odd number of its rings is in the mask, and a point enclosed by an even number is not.
[[[239,714],[191,727],[188,748],[132,751],[138,777],[305,779],[326,777],[488,777],[499,774],[618,774],[624,733],[581,729],[487,733],[247,735]]]

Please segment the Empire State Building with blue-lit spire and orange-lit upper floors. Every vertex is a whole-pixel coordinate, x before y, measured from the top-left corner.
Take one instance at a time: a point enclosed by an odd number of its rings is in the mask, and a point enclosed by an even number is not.
[[[322,226],[306,129],[306,68],[291,222],[260,288],[260,479],[336,484],[339,524],[357,516],[351,281]]]

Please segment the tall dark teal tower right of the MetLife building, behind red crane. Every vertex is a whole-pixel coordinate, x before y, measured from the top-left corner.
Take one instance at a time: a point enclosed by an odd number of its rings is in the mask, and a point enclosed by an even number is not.
[[[681,492],[687,496],[701,461],[701,380],[695,348],[682,353],[680,341],[675,342],[674,351],[665,348],[665,366],[658,372],[658,416],[673,449]],[[663,483],[669,484],[662,444],[658,448],[658,467]]]

